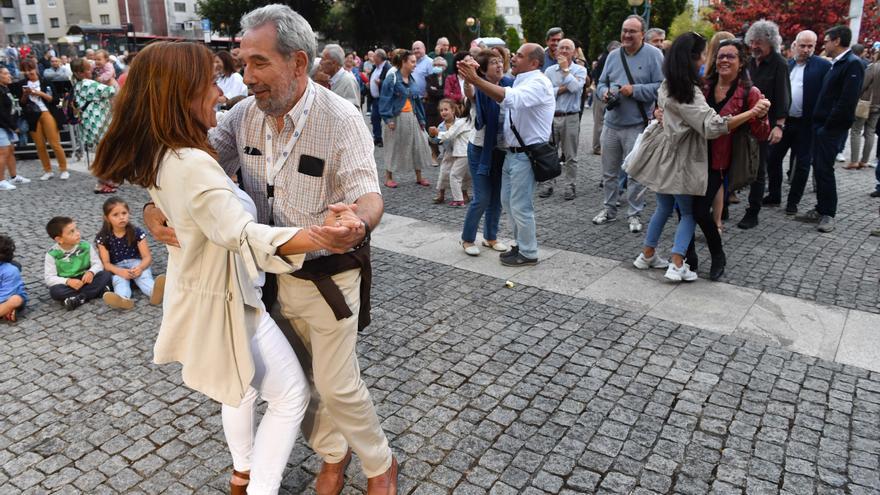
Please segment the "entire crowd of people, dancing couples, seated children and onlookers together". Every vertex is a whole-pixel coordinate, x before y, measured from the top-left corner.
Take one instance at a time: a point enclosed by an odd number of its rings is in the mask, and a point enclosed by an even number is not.
[[[74,121],[96,150],[95,192],[124,182],[149,191],[146,230],[118,197],[104,203],[94,244],[74,219],[49,220],[55,244],[44,280],[70,310],[99,297],[130,309],[132,284],[151,304],[164,301],[154,360],[182,363],[184,382],[222,404],[232,493],[277,493],[300,427],[323,459],[317,493],[342,490],[352,453],[368,493],[396,493],[397,461],[355,352],[370,322],[369,241],[384,211],[381,185],[397,188],[410,176],[428,188],[422,172],[439,166],[433,202],[466,208],[464,253],[479,256],[482,247],[503,265],[534,265],[535,197],[577,197],[590,106],[603,189],[592,223],[613,228],[625,208],[628,231],[645,230],[634,266],[664,269],[675,282],[698,278],[699,226],[709,277],[719,280],[723,220],[737,190],[749,191],[737,225],[753,228],[762,208],[781,206],[791,150],[785,213],[833,232],[837,155],[850,136],[844,168],[866,166],[880,120],[880,64],[856,55],[844,26],[822,34],[821,55],[819,36],[800,32],[786,59],[771,21],[751,24],[743,38],[666,40],[631,15],[620,40],[590,64],[560,28],[547,31],[544,46],[525,43],[512,54],[504,46],[453,50],[440,38],[431,53],[416,41],[361,59],[336,44],[318,52],[311,27],[286,6],[258,8],[241,24],[241,47],[231,52],[160,42],[125,68],[101,50],[69,64],[51,54],[41,65],[26,54],[0,68],[0,170],[9,175],[0,189],[30,182],[13,153],[25,133],[40,179],[54,177],[47,143],[68,178],[59,128]],[[381,182],[376,146],[385,156]],[[548,149],[555,172],[537,182]],[[817,204],[798,215],[810,173]],[[656,208],[644,228],[649,192]],[[880,172],[871,196],[880,197]],[[510,244],[498,239],[503,212]],[[667,260],[658,244],[674,215]],[[169,246],[167,279],[151,273],[147,231]],[[0,317],[11,321],[28,303],[14,252],[0,236]],[[276,303],[281,317],[273,320]],[[311,358],[305,369],[279,323]],[[257,398],[270,405],[255,431]]]

